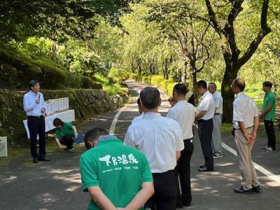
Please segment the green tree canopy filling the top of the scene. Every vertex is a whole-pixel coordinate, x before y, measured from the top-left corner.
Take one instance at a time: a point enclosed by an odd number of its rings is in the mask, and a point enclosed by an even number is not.
[[[74,75],[219,83],[228,121],[232,79],[280,85],[280,0],[3,0],[0,14],[1,45]]]

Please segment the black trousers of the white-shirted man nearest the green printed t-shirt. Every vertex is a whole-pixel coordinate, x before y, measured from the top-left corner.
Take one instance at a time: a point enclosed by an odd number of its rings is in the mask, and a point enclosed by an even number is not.
[[[154,195],[146,202],[145,209],[176,210],[174,172],[153,173]]]

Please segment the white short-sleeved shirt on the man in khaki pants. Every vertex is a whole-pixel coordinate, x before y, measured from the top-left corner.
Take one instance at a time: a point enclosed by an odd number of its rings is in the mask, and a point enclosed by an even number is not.
[[[258,116],[258,108],[255,101],[244,92],[239,92],[233,102],[233,127],[239,129],[238,122],[244,122],[245,127],[252,127],[256,116]]]

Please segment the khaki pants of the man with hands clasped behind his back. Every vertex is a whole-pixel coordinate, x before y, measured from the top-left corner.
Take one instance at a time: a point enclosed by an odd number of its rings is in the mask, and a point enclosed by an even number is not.
[[[253,127],[247,128],[248,134],[253,132]],[[241,170],[242,183],[244,190],[251,189],[252,186],[259,186],[258,176],[255,173],[255,167],[251,158],[253,144],[248,144],[241,130],[235,130],[235,143],[237,145],[237,157],[239,159],[239,168]]]

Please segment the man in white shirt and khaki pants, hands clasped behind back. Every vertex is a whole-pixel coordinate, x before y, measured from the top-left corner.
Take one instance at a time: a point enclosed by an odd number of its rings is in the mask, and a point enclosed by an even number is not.
[[[235,189],[235,193],[249,194],[253,191],[260,193],[260,183],[251,157],[257,137],[258,109],[254,100],[244,94],[244,89],[243,79],[237,78],[232,81],[232,91],[237,95],[233,102],[232,123],[235,128],[235,143],[242,176],[241,188]]]

